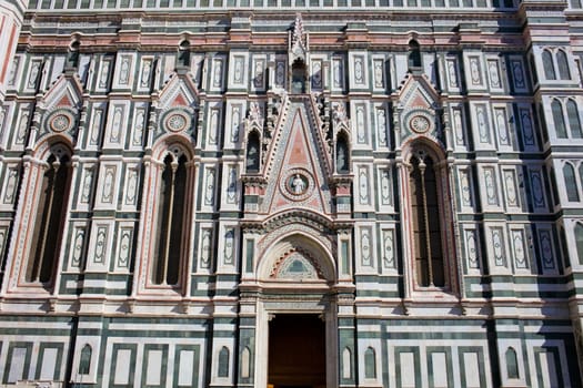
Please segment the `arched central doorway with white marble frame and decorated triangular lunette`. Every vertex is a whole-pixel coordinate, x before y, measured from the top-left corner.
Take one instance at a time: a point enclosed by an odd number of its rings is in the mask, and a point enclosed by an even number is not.
[[[321,241],[294,234],[258,268],[258,387],[336,387],[335,268]]]

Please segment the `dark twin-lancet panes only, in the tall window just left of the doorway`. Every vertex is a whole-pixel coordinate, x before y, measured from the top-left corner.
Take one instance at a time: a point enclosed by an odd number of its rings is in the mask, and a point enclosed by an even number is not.
[[[183,252],[187,157],[169,154],[163,163],[151,280],[155,285],[177,285]]]

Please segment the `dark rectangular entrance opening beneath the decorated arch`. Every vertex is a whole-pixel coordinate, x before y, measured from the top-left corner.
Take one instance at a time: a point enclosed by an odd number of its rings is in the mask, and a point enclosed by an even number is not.
[[[315,314],[269,323],[269,388],[325,388],[325,324]]]

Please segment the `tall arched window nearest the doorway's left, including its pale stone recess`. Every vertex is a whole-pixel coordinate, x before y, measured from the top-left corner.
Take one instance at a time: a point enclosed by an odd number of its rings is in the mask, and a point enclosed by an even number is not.
[[[144,187],[137,253],[138,293],[184,292],[195,167],[188,140],[173,135],[144,159]]]

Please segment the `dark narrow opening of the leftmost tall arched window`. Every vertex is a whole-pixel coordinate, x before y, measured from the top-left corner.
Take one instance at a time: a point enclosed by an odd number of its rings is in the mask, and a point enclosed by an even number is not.
[[[68,214],[66,207],[72,174],[70,161],[68,149],[61,144],[54,145],[47,159],[24,275],[27,282],[48,284],[53,278]]]

